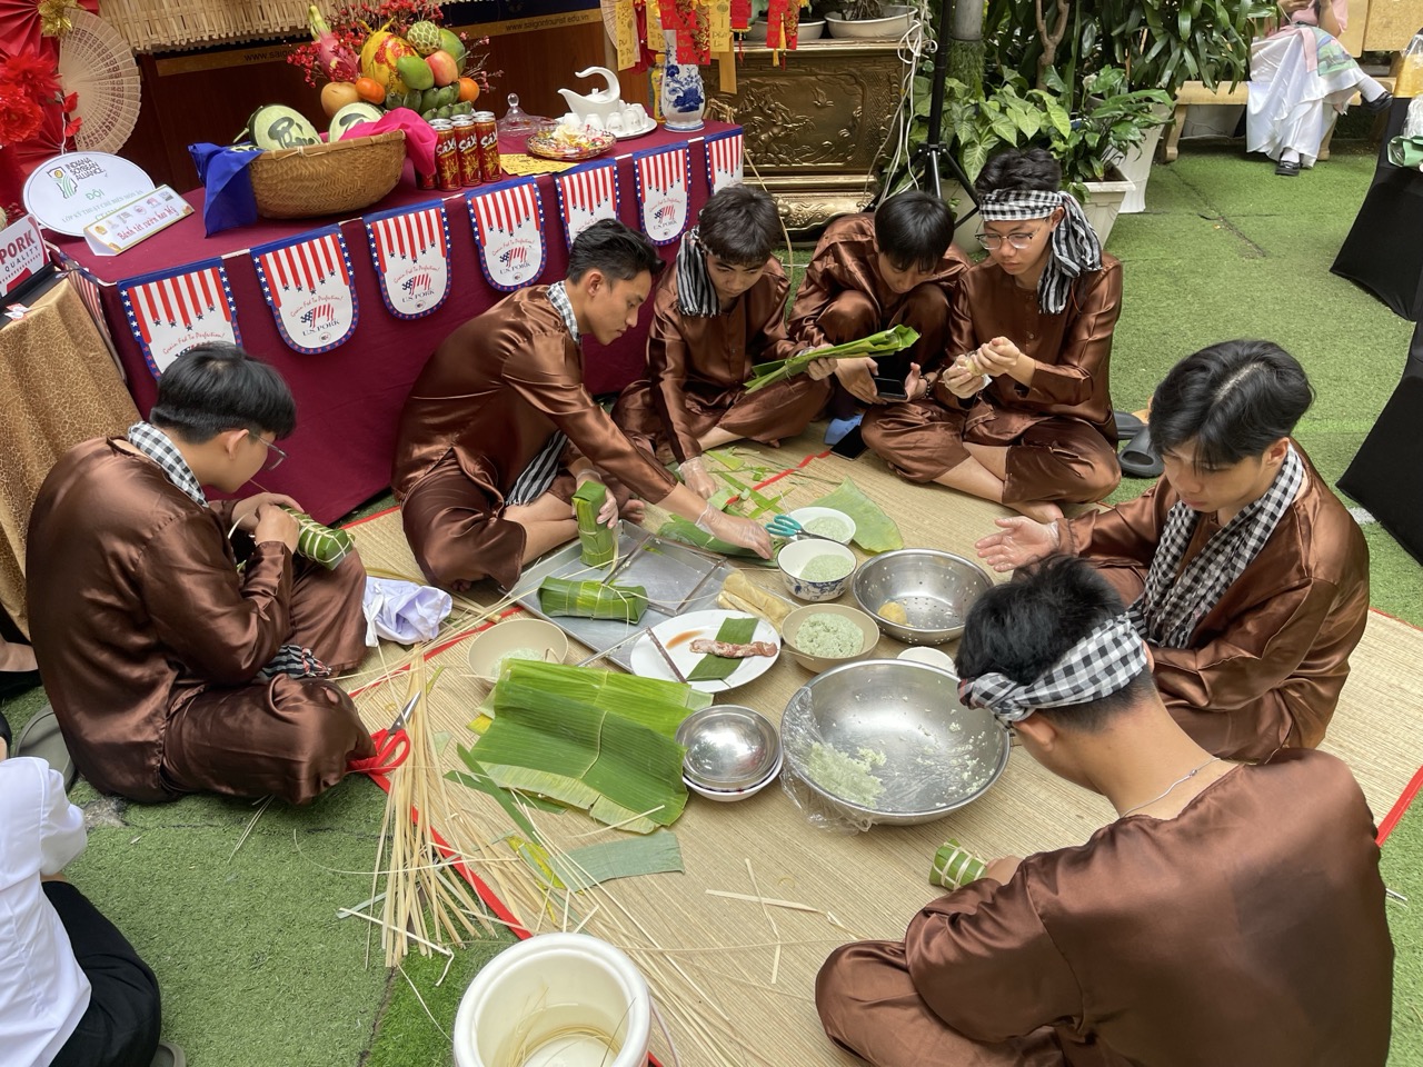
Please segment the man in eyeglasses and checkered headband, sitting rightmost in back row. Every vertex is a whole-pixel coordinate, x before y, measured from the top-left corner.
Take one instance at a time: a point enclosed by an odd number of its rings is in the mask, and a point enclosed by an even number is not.
[[[955,289],[951,359],[912,366],[909,400],[871,408],[864,440],[909,481],[1052,522],[1121,481],[1107,383],[1121,265],[1046,151],[993,156],[975,189],[989,256]]]

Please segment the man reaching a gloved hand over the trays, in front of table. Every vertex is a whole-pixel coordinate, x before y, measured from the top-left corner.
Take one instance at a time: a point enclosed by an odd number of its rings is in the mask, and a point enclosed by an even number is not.
[[[609,526],[649,501],[770,556],[763,526],[679,485],[583,386],[582,339],[608,344],[636,326],[662,267],[645,235],[602,219],[573,239],[564,282],[511,293],[435,349],[400,413],[391,474],[431,582],[512,589],[525,563],[578,536],[569,501],[588,479],[608,485]]]

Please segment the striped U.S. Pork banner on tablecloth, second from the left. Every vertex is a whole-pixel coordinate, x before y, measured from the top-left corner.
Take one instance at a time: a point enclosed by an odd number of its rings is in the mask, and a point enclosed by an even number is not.
[[[360,306],[340,226],[258,245],[252,262],[276,329],[293,351],[330,351],[356,333]]]

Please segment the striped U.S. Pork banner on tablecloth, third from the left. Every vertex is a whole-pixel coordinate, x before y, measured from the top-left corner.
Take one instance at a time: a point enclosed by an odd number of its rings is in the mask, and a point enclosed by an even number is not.
[[[367,215],[380,297],[397,319],[423,319],[450,296],[450,222],[444,202]]]

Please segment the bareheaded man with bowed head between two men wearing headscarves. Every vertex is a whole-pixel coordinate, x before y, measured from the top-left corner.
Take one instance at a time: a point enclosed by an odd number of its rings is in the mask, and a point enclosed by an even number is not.
[[[844,344],[891,326],[919,333],[914,347],[878,360],[835,360],[835,418],[857,403],[878,404],[875,376],[902,380],[909,364],[938,366],[949,337],[951,294],[969,267],[952,246],[953,212],[938,196],[911,189],[875,212],[835,219],[825,228],[791,306],[790,334],[804,349]]]

